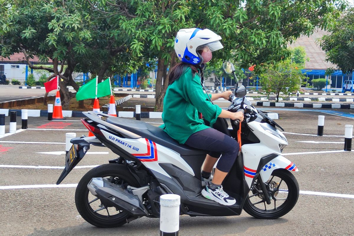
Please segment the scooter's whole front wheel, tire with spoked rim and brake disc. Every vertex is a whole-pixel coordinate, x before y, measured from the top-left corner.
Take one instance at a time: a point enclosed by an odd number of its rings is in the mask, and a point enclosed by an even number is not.
[[[299,197],[299,185],[294,175],[286,169],[276,169],[265,185],[272,197],[270,205],[265,201],[257,179],[245,201],[245,212],[259,219],[276,219],[291,211]]]

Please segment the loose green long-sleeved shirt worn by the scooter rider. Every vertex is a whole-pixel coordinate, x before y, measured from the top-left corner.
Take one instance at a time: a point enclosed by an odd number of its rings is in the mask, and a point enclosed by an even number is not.
[[[210,97],[203,92],[200,77],[192,69],[187,68],[184,73],[167,88],[164,98],[162,120],[165,128],[173,139],[184,144],[189,136],[195,132],[210,128],[198,117],[198,111],[204,119],[215,123],[221,113],[221,108],[210,102]]]

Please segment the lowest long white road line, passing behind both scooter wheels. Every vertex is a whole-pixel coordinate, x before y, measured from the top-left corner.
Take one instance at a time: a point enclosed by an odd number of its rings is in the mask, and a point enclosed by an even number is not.
[[[0,189],[33,189],[33,188],[75,188],[78,184],[32,184],[32,185],[11,185],[11,186],[0,186]],[[285,191],[282,191],[285,192]],[[300,194],[305,195],[319,195],[328,197],[344,197],[344,198],[354,198],[352,194],[335,194],[331,192],[314,192],[314,191],[302,191]]]

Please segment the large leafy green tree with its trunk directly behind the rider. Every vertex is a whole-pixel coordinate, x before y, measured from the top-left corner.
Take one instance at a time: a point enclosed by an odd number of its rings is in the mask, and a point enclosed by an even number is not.
[[[325,28],[345,7],[342,1],[171,1],[91,0],[91,7],[110,16],[115,34],[125,35],[132,54],[158,60],[156,109],[162,110],[166,69],[176,63],[174,37],[181,28],[209,28],[222,36],[224,50],[214,58],[235,57],[243,68],[274,63],[289,56],[287,42]],[[162,85],[163,84],[163,85]]]

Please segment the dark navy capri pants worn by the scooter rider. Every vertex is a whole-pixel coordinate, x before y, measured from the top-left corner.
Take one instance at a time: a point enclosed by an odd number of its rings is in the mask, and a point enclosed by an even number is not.
[[[193,133],[185,142],[192,148],[210,151],[209,155],[219,158],[216,168],[229,172],[239,154],[240,145],[232,137],[213,128],[203,129]]]

